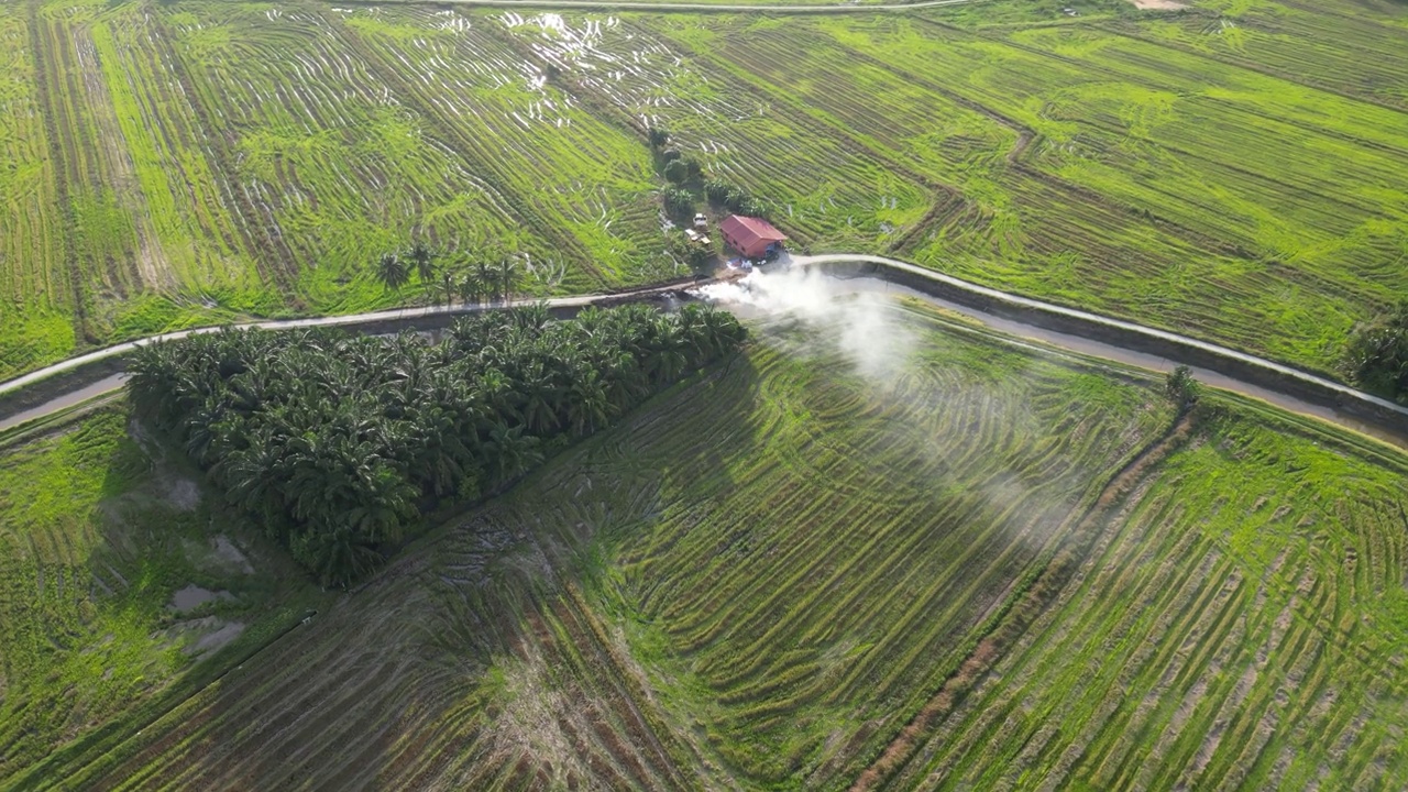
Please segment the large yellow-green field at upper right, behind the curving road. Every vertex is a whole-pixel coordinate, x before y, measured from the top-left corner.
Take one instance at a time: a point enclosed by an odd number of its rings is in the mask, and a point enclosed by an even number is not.
[[[834,137],[934,162],[964,200],[901,235],[922,264],[1319,369],[1408,292],[1402,111],[1098,25],[929,18],[656,27]]]

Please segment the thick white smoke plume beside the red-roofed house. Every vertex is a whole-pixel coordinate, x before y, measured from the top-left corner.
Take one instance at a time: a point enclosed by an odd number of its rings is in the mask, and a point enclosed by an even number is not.
[[[884,293],[856,290],[812,269],[755,271],[741,280],[703,286],[698,295],[745,317],[794,317],[869,379],[897,375],[915,344],[914,331]]]

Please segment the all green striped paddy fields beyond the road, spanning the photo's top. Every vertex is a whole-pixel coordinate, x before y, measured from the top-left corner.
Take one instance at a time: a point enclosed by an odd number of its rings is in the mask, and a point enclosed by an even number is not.
[[[372,264],[413,238],[566,265],[539,292],[673,276],[650,125],[797,248],[1335,369],[1408,293],[1408,8],[1063,7],[6,3],[0,376],[408,299]]]

